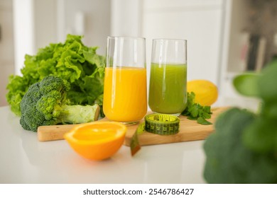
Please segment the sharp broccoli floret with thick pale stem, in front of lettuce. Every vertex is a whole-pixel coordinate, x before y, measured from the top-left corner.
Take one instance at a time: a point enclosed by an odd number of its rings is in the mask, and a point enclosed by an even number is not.
[[[20,124],[36,132],[39,126],[78,124],[98,119],[99,105],[70,105],[66,94],[70,84],[57,76],[34,83],[23,96]]]

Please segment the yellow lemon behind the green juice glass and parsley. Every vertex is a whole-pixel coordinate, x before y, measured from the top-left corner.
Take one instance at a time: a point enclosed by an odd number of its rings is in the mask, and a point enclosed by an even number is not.
[[[217,101],[217,86],[207,80],[188,81],[187,91],[195,93],[195,103],[210,106]]]

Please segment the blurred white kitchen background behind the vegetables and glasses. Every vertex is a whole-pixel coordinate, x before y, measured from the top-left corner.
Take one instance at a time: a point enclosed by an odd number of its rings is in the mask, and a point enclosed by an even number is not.
[[[148,71],[153,38],[188,40],[188,80],[215,83],[215,105],[255,108],[256,100],[234,91],[232,78],[259,72],[276,54],[277,1],[0,0],[0,106],[24,55],[64,42],[67,33],[84,35],[102,55],[108,35],[146,37]]]

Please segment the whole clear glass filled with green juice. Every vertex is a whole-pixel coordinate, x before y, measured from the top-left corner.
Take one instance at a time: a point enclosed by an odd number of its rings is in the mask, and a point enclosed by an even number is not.
[[[185,110],[187,40],[153,40],[148,105],[153,112],[177,116]]]

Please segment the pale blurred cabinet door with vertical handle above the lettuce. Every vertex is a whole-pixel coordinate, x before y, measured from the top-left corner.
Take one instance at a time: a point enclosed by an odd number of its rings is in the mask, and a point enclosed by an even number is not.
[[[97,53],[105,55],[110,33],[110,0],[58,0],[58,40],[68,33],[84,35],[88,46],[98,46]]]

